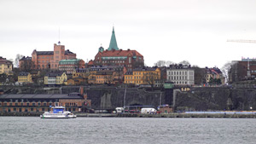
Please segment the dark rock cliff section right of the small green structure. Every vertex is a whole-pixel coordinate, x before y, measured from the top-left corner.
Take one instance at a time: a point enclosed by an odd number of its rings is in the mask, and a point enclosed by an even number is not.
[[[256,108],[256,89],[191,89],[187,93],[177,93],[176,107],[195,111],[248,111],[251,110],[250,107]]]

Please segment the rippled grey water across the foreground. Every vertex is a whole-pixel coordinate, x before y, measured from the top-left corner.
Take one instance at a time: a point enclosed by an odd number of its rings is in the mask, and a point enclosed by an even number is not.
[[[0,143],[256,143],[255,118],[0,117]]]

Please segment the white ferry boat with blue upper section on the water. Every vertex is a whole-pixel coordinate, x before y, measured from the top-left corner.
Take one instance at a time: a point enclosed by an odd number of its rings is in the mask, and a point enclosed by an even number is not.
[[[72,112],[65,111],[65,107],[51,107],[50,112],[44,112],[40,118],[77,118]]]

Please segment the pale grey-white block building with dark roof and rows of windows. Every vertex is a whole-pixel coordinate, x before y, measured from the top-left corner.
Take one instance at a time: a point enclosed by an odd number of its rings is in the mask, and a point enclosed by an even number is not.
[[[166,80],[176,85],[194,85],[195,71],[190,66],[170,65],[166,69]]]

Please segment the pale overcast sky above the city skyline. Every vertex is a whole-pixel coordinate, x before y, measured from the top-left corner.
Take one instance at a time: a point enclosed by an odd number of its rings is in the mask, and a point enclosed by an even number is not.
[[[84,61],[108,49],[114,25],[119,49],[157,60],[218,66],[256,57],[255,0],[0,0],[0,56],[31,56],[61,44]]]

